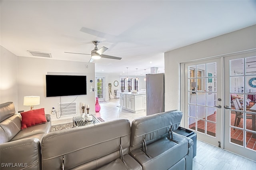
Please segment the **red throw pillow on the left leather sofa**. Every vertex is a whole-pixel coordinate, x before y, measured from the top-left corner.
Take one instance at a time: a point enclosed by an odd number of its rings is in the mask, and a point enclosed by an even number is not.
[[[44,108],[22,112],[20,115],[22,117],[20,129],[47,122]]]

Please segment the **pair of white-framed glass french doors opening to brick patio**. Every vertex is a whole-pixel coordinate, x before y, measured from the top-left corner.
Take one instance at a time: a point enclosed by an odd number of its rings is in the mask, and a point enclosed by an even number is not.
[[[256,112],[250,110],[256,105],[256,50],[182,68],[184,127],[202,141],[256,161]]]

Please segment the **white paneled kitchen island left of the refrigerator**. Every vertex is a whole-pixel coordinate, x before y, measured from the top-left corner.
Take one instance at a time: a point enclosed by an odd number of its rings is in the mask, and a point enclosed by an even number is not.
[[[139,113],[146,110],[146,92],[123,92],[120,93],[120,105],[122,109]]]

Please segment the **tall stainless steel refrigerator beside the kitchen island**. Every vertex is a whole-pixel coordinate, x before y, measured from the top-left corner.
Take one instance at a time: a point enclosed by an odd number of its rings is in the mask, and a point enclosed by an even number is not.
[[[164,73],[146,75],[146,115],[164,112]]]

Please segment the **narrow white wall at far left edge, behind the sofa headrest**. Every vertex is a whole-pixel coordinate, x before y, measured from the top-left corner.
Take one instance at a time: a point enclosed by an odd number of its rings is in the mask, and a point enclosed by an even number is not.
[[[17,56],[0,46],[0,103],[12,101],[18,112]]]

